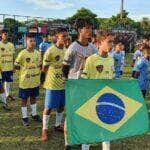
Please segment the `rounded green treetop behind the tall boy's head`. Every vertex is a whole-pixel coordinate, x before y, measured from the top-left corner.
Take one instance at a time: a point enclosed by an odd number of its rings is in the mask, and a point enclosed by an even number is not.
[[[93,22],[95,28],[97,28],[99,25],[98,20],[97,20],[97,15],[86,8],[81,8],[81,9],[77,10],[77,12],[72,17],[67,18],[66,21],[68,23],[70,23],[71,25],[73,25],[76,19],[91,20],[91,22]]]

